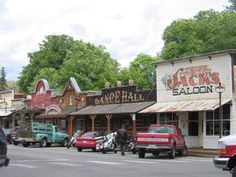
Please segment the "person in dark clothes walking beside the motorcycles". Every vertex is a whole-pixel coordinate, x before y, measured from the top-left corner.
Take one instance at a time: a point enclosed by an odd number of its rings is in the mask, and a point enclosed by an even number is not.
[[[117,132],[117,141],[120,144],[121,155],[125,155],[125,148],[128,140],[127,130],[125,129],[125,125],[123,124],[121,129]]]

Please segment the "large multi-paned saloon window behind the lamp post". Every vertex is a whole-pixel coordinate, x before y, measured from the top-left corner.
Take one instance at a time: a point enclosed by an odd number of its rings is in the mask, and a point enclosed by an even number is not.
[[[214,136],[220,134],[220,115],[219,109],[207,111],[206,114],[206,135]],[[230,105],[223,106],[222,135],[230,134]]]

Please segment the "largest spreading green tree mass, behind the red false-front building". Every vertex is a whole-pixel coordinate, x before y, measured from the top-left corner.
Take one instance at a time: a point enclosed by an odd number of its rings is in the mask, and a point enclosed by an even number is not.
[[[66,35],[47,36],[40,50],[29,53],[30,63],[19,77],[19,90],[29,93],[39,79],[47,79],[61,91],[70,77],[75,77],[82,90],[100,90],[106,81],[114,82],[119,64],[103,46],[95,46]]]

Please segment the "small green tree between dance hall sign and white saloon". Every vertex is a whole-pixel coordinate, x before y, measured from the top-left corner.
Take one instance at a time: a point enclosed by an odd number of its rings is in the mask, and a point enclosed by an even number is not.
[[[156,57],[139,54],[129,65],[130,79],[143,89],[156,88],[156,72],[153,63],[160,61]]]

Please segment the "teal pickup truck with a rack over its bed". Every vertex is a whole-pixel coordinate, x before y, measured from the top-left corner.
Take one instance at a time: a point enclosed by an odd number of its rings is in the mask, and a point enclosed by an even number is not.
[[[52,143],[67,146],[69,135],[60,132],[57,126],[50,123],[33,122],[29,128],[20,130],[14,139],[14,144],[22,143],[24,147],[39,143],[40,147],[48,147]]]

